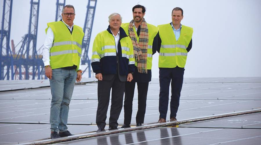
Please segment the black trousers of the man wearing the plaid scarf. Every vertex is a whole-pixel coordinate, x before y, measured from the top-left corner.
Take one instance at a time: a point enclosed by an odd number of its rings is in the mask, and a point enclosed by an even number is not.
[[[146,100],[148,93],[148,82],[137,83],[138,88],[138,112],[136,115],[136,123],[144,123],[146,112]],[[135,81],[125,83],[124,98],[124,124],[131,124],[132,102],[135,90]]]

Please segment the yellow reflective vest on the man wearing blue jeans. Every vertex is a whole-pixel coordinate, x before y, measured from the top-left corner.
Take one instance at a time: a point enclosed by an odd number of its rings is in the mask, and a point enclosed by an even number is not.
[[[54,42],[50,49],[50,65],[52,69],[76,65],[79,68],[81,58],[81,42],[84,32],[81,27],[74,25],[73,33],[62,21],[47,23],[54,35]]]

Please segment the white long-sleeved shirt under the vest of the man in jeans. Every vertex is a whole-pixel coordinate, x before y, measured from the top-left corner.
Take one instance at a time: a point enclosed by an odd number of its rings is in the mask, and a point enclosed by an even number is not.
[[[62,22],[64,23],[63,20],[62,20]],[[72,31],[74,24],[72,25],[72,27],[70,27],[66,23],[64,23],[64,24],[66,25],[66,27],[68,27],[70,29],[70,31]],[[53,40],[54,40],[53,31],[52,31],[51,27],[49,27],[46,32],[46,38],[44,41],[44,48],[43,48],[44,66],[50,65],[50,49],[52,47]],[[81,70],[81,58],[80,58],[80,65],[79,65],[78,69]]]

